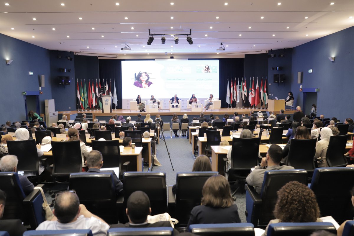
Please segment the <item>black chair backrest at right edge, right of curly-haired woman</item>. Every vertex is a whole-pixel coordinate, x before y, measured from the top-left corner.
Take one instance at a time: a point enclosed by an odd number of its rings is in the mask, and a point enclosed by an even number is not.
[[[354,168],[316,168],[310,189],[316,195],[321,215],[331,215],[337,222],[353,218],[350,190],[354,186]]]

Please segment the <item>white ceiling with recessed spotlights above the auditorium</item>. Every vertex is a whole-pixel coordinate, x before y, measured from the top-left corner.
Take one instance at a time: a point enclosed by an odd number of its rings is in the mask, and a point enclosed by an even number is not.
[[[0,2],[2,34],[50,50],[119,58],[158,57],[165,53],[177,57],[244,57],[295,47],[353,25],[353,0]],[[154,36],[148,46],[149,29],[151,34],[166,34],[166,44],[161,44],[161,36]],[[171,35],[189,34],[190,29],[193,45],[183,35],[175,44]],[[221,42],[225,51],[216,51]],[[120,50],[125,43],[130,51]]]

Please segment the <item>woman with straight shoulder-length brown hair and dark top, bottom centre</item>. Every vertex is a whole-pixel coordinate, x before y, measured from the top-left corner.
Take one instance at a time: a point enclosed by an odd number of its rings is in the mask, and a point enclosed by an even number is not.
[[[190,212],[188,226],[192,224],[241,223],[238,208],[231,196],[230,184],[216,174],[206,180],[201,205]],[[188,228],[187,226],[187,228]]]

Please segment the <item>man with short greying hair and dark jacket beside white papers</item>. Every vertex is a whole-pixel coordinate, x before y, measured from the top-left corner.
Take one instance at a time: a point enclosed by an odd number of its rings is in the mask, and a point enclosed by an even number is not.
[[[86,166],[89,167],[87,172],[97,172],[97,173],[113,173],[113,183],[115,186],[115,193],[117,195],[122,194],[123,184],[118,179],[117,175],[113,170],[101,171],[103,165],[103,157],[101,152],[97,150],[92,150],[89,155],[87,155],[87,160],[85,161]]]

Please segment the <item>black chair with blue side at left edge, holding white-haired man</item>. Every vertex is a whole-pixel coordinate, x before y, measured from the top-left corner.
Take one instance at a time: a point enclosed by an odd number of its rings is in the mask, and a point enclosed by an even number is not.
[[[0,172],[0,189],[6,193],[6,207],[2,219],[21,219],[24,225],[30,225],[31,229],[36,229],[45,221],[40,190],[34,189],[25,196],[16,172]]]

